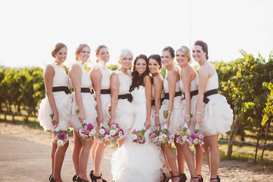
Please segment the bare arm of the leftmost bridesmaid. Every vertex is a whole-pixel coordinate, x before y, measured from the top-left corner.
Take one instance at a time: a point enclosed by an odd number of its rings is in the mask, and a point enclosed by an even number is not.
[[[46,67],[44,73],[45,87],[46,87],[46,96],[49,102],[49,105],[53,111],[54,117],[51,121],[54,128],[59,124],[59,113],[56,107],[56,103],[53,97],[52,88],[53,88],[53,76],[55,76],[54,68],[51,65]]]

